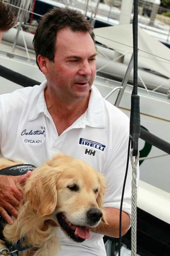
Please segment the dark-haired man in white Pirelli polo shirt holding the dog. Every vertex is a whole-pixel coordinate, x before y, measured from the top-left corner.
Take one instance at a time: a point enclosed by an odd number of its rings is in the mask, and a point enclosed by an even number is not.
[[[59,256],[104,256],[103,234],[119,237],[129,119],[92,86],[96,72],[94,33],[80,12],[52,9],[42,17],[33,43],[37,64],[47,81],[1,95],[1,153],[9,159],[38,166],[61,151],[86,161],[102,173],[107,182],[104,207],[108,224],[101,223],[92,230],[90,239],[81,244],[61,230],[58,235]],[[0,179],[0,189],[2,183],[5,180]],[[14,189],[12,184],[11,190]],[[14,191],[5,196],[3,211],[10,211],[8,203],[15,209],[16,200],[19,201]],[[124,194],[122,235],[129,228],[130,215],[131,165]],[[7,213],[2,216],[9,218]]]

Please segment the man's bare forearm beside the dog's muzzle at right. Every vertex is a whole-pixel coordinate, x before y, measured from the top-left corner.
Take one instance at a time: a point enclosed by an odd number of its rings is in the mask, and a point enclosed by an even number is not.
[[[116,208],[104,208],[107,224],[101,222],[96,228],[90,228],[92,232],[107,235],[109,237],[119,237],[119,214],[120,210]],[[130,225],[130,217],[122,211],[122,235],[126,234]]]

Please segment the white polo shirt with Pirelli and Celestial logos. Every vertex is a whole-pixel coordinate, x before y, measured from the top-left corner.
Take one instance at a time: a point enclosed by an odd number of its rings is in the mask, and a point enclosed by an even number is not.
[[[129,118],[104,100],[92,86],[88,108],[59,137],[44,99],[46,81],[0,95],[0,151],[3,157],[39,166],[59,151],[82,159],[107,182],[105,207],[120,208],[126,170]],[[131,164],[124,193],[123,211],[131,215]],[[114,218],[114,216],[113,216]],[[105,256],[103,235],[76,243],[58,229],[58,256]]]

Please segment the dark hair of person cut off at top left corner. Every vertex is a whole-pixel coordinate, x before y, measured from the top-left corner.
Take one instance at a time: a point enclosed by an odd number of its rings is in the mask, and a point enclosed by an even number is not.
[[[0,0],[0,31],[7,31],[15,24],[14,13],[10,9],[10,5]]]

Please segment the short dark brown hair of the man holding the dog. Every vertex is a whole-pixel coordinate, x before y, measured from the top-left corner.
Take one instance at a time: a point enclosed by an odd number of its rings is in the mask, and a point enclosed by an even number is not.
[[[50,61],[54,61],[57,32],[65,27],[69,27],[72,31],[88,32],[95,42],[93,26],[81,12],[68,7],[60,9],[54,7],[42,16],[34,35],[33,45],[36,52],[36,62],[39,54],[47,57]],[[37,66],[39,67],[38,63]]]

